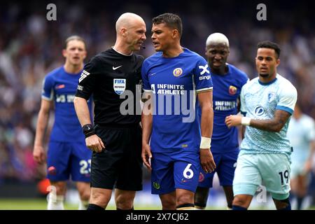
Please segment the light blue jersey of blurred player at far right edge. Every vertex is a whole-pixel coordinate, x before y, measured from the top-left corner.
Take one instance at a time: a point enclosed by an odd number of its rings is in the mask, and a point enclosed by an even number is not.
[[[291,118],[287,137],[293,146],[292,161],[304,162],[309,158],[309,144],[315,141],[315,123],[313,118],[303,114],[298,120]]]

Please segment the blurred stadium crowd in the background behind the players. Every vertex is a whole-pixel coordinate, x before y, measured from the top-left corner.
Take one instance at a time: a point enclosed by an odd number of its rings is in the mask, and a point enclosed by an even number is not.
[[[1,3],[0,7],[0,184],[8,180],[36,181],[45,167],[33,160],[36,116],[41,102],[41,85],[48,71],[64,59],[60,49],[72,34],[87,41],[87,60],[113,45],[114,22],[122,12],[139,13],[147,25],[144,57],[153,54],[151,18],[159,13],[178,13],[183,19],[182,44],[204,55],[209,34],[221,32],[230,39],[229,62],[255,73],[258,41],[272,40],[281,46],[279,73],[297,88],[304,113],[315,118],[315,29],[314,15],[307,5],[281,1],[267,3],[267,21],[258,21],[257,3],[191,1],[57,1],[57,20],[46,19],[45,3],[30,1]],[[279,13],[281,11],[281,13]],[[311,29],[313,26],[313,29]],[[85,62],[87,62],[87,60]],[[53,116],[51,116],[53,117]],[[50,127],[53,120],[50,120]],[[46,135],[47,136],[47,135]]]

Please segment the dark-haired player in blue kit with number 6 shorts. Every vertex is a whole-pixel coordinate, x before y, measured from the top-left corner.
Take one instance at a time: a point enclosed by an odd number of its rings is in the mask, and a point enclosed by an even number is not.
[[[145,103],[142,116],[142,160],[152,169],[152,193],[168,210],[194,209],[200,167],[204,172],[216,168],[210,151],[214,113],[208,64],[181,47],[181,34],[178,15],[153,18],[151,38],[157,53],[141,70],[152,103]],[[199,106],[201,120],[195,110]]]

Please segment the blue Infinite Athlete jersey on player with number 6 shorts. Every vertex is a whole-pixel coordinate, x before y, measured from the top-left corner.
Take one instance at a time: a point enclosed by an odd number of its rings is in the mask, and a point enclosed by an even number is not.
[[[206,60],[183,48],[172,58],[157,52],[144,60],[144,91],[154,94],[151,150],[154,153],[199,151],[200,120],[196,92],[212,90]]]

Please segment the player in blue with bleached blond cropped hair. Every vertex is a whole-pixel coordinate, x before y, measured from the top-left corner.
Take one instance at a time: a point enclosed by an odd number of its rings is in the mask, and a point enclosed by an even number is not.
[[[197,209],[206,208],[215,173],[223,186],[228,209],[232,209],[232,181],[239,154],[239,141],[237,128],[228,128],[225,125],[225,117],[239,112],[241,87],[248,78],[246,73],[227,63],[229,53],[229,41],[224,34],[214,33],[207,38],[206,57],[214,83],[214,133],[211,152],[216,169],[211,173],[206,174],[203,170],[200,173],[200,183],[195,194]]]

